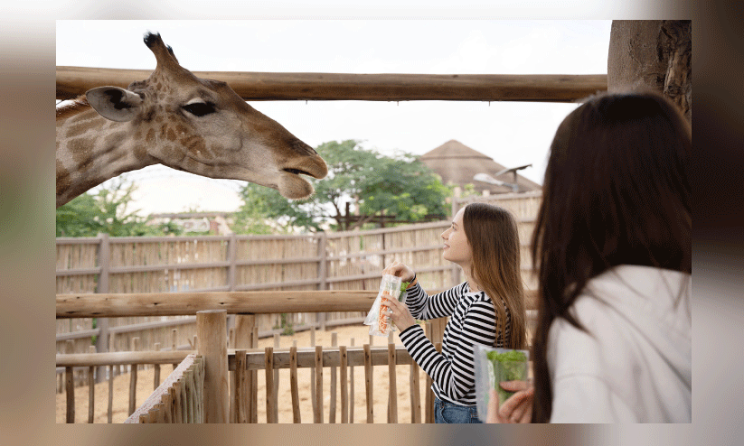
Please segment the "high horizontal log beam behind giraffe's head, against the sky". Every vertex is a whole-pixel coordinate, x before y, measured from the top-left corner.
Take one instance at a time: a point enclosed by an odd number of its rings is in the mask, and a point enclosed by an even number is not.
[[[57,67],[57,99],[90,88],[127,88],[152,70]],[[245,100],[468,100],[576,102],[607,90],[606,74],[347,74],[194,71]]]

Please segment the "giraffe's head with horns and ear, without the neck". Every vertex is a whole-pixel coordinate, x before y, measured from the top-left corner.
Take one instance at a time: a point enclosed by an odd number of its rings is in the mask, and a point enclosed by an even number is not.
[[[225,82],[184,69],[160,34],[146,33],[145,43],[157,60],[148,79],[86,92],[99,115],[130,126],[144,156],[185,172],[268,186],[288,199],[313,193],[301,175],[324,178],[327,166],[312,147]]]

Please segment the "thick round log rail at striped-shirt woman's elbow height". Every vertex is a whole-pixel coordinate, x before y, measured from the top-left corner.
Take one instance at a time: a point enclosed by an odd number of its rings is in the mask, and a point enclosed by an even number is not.
[[[369,311],[377,290],[213,293],[57,294],[57,319],[179,316],[202,310],[230,314]],[[536,308],[534,292],[525,293],[527,310]]]

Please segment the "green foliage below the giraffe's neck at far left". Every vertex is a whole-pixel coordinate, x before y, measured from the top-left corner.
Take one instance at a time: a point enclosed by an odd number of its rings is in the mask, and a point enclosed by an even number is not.
[[[96,237],[99,233],[111,237],[180,235],[181,229],[173,223],[147,225],[137,210],[127,211],[136,189],[133,182],[118,177],[108,187],[84,193],[57,208],[57,237]]]

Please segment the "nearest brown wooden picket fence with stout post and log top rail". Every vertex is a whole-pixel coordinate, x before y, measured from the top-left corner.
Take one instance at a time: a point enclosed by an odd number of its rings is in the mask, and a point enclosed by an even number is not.
[[[198,354],[204,358],[205,361],[205,386],[204,395],[215,395],[219,393],[222,395],[219,398],[219,405],[222,407],[214,407],[214,403],[205,403],[205,413],[222,413],[217,418],[218,420],[225,419],[229,416],[230,420],[234,423],[248,422],[258,423],[258,392],[256,391],[258,386],[258,371],[265,371],[265,384],[266,384],[266,420],[267,423],[276,423],[277,421],[277,407],[278,407],[278,394],[276,389],[278,387],[278,369],[290,368],[294,372],[290,376],[289,386],[292,388],[292,399],[293,399],[293,411],[295,412],[294,421],[300,423],[298,417],[298,406],[299,395],[297,393],[297,368],[307,367],[311,371],[311,382],[314,386],[311,387],[312,395],[310,396],[311,402],[314,405],[314,423],[324,422],[324,408],[323,408],[323,374],[324,368],[330,369],[331,372],[331,395],[333,403],[329,407],[329,423],[335,423],[336,413],[336,368],[341,368],[341,420],[353,423],[353,391],[347,390],[345,383],[348,382],[347,376],[353,383],[353,370],[355,366],[363,366],[365,373],[365,384],[366,384],[366,396],[367,396],[367,423],[372,423],[372,367],[377,366],[388,366],[389,376],[391,382],[389,388],[391,393],[389,397],[388,422],[397,423],[397,391],[395,386],[395,369],[396,366],[407,365],[410,367],[410,397],[412,407],[420,407],[420,385],[418,379],[419,368],[411,360],[406,350],[402,347],[397,347],[390,343],[386,348],[371,348],[370,344],[364,345],[361,348],[354,348],[353,346],[346,347],[336,345],[331,348],[324,348],[323,346],[315,346],[315,348],[303,348],[297,349],[296,346],[293,348],[266,348],[261,351],[257,347],[258,339],[258,327],[252,325],[255,321],[255,315],[260,313],[270,312],[292,312],[292,311],[325,311],[329,308],[341,308],[343,310],[361,310],[368,309],[374,301],[377,292],[248,292],[248,293],[174,293],[164,305],[160,305],[159,302],[163,302],[163,295],[157,294],[88,294],[88,295],[58,295],[57,296],[57,318],[64,319],[69,317],[75,317],[80,315],[88,314],[101,314],[106,317],[118,317],[118,316],[130,316],[134,314],[152,314],[152,315],[163,315],[163,314],[184,314],[192,312],[194,308],[202,308],[202,311],[196,311],[197,314],[197,325],[198,325],[198,337],[194,339],[194,345],[198,345]],[[237,314],[237,329],[232,336],[231,343],[236,346],[241,346],[240,349],[232,348],[228,350],[227,338],[227,324],[226,324],[226,313],[231,312]],[[209,315],[210,318],[203,318],[205,314]],[[221,315],[221,319],[215,322],[213,317]],[[200,322],[200,317],[201,322]],[[206,321],[212,321],[207,323]],[[427,323],[427,336],[429,339],[440,345],[442,334],[444,331],[445,319],[429,321]],[[371,337],[372,338],[372,337]],[[198,342],[197,342],[198,339]],[[391,342],[391,337],[389,338]],[[334,342],[335,344],[335,342]],[[216,347],[215,347],[216,346]],[[246,348],[248,347],[248,348]],[[89,423],[93,422],[93,407],[95,402],[93,401],[93,380],[92,376],[95,373],[96,368],[108,367],[109,370],[115,365],[130,365],[132,366],[133,374],[131,376],[131,385],[129,393],[129,410],[128,413],[136,414],[132,421],[139,418],[141,414],[149,413],[155,405],[162,401],[161,398],[170,392],[168,390],[170,384],[179,379],[178,373],[184,367],[174,367],[175,376],[169,376],[163,385],[157,386],[155,394],[151,395],[147,399],[146,403],[140,406],[136,410],[136,398],[134,388],[137,385],[137,366],[140,364],[173,364],[181,361],[189,353],[193,351],[150,351],[150,352],[116,352],[116,353],[88,353],[88,354],[65,354],[57,355],[56,363],[57,367],[63,367],[68,376],[68,386],[66,386],[67,392],[67,422],[75,422],[75,386],[71,384],[71,376],[73,368],[81,368],[87,370],[89,379]],[[215,359],[216,358],[216,359]],[[213,367],[215,364],[221,362],[220,358],[224,358],[224,367]],[[349,373],[345,368],[349,368]],[[231,373],[231,378],[214,376],[227,376],[228,372]],[[313,373],[315,372],[315,373]],[[416,372],[416,373],[414,373]],[[212,377],[210,377],[212,376]],[[111,423],[111,401],[112,401],[112,380],[113,375],[109,374],[109,394],[108,394],[108,423]],[[156,378],[157,379],[157,378]],[[228,394],[227,383],[231,383],[231,390],[229,391],[231,397],[225,396]],[[156,382],[156,384],[159,384]],[[431,382],[429,379],[426,380],[426,389],[429,389]],[[285,385],[285,388],[286,385]],[[353,385],[352,385],[353,388]],[[216,390],[215,390],[216,389]],[[394,392],[394,393],[393,393]],[[430,393],[430,391],[428,391]],[[179,392],[180,393],[180,392]],[[167,410],[173,408],[175,396],[165,396],[165,406]],[[230,406],[221,404],[228,404]],[[431,395],[426,396],[426,407],[429,407],[432,403]],[[212,404],[212,405],[210,405]],[[349,405],[351,404],[351,405]],[[229,408],[229,412],[228,412]],[[163,408],[161,408],[163,409]],[[429,409],[428,409],[429,410]],[[137,412],[138,411],[138,412]],[[157,418],[157,413],[162,415],[162,419],[170,417],[174,419],[176,415],[171,412],[169,415],[162,413],[162,410],[158,412],[155,410],[153,416]],[[331,414],[333,413],[333,415]],[[344,414],[345,413],[345,414]],[[412,423],[420,423],[420,411],[414,409],[412,411],[414,418]],[[418,414],[417,414],[418,413]],[[425,418],[430,421],[430,413]],[[152,421],[151,417],[147,417],[146,421]],[[208,414],[205,415],[204,421],[210,423],[210,417]],[[212,419],[212,422],[213,419]],[[217,423],[223,423],[217,421]]]

